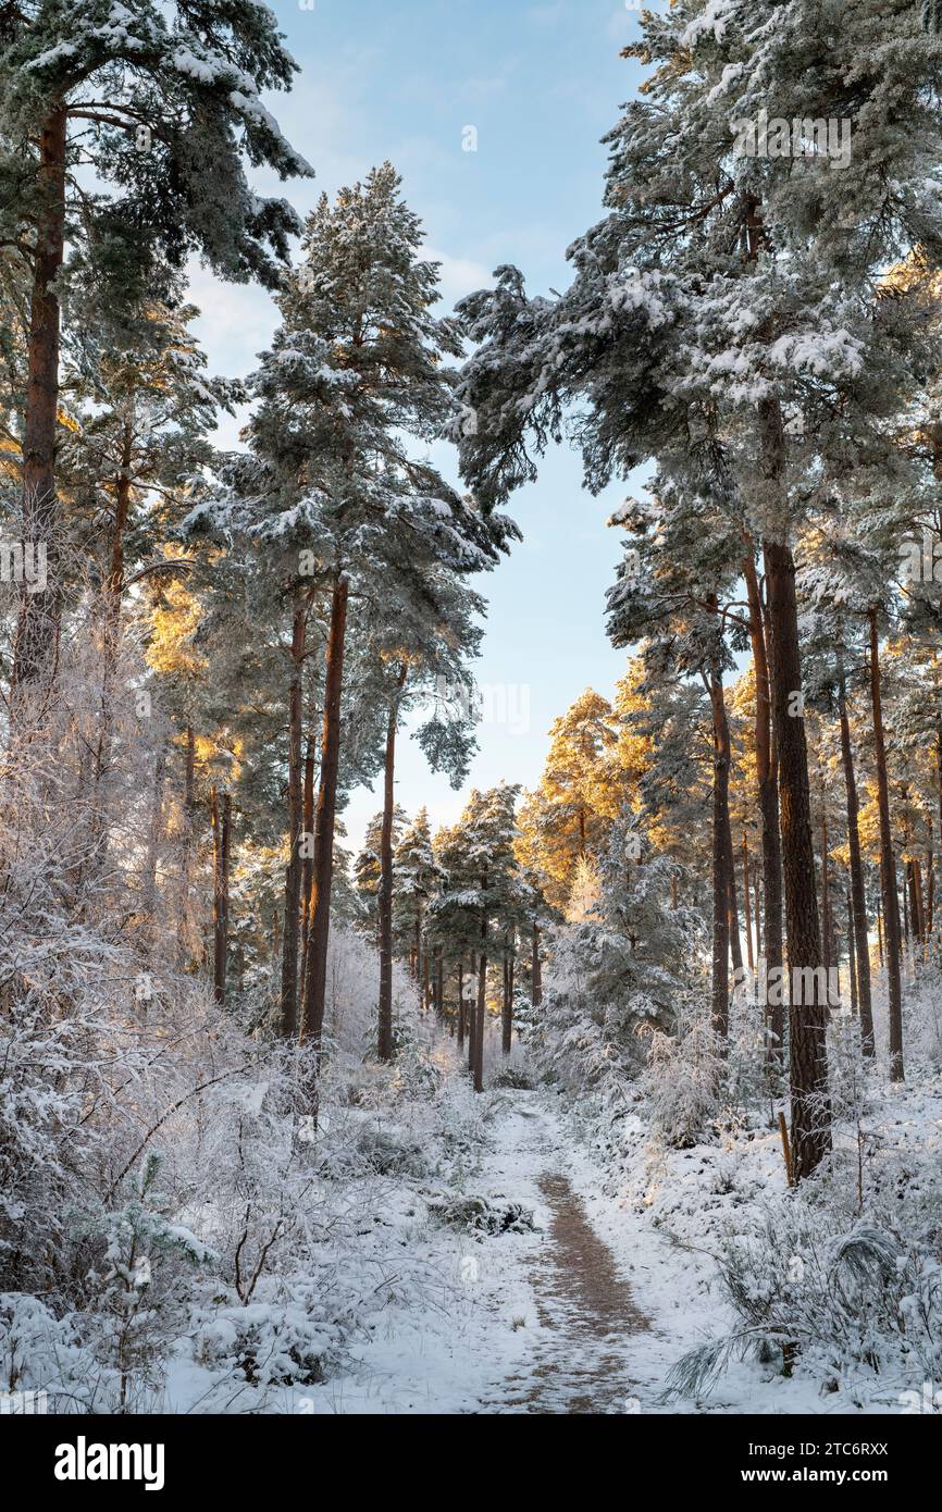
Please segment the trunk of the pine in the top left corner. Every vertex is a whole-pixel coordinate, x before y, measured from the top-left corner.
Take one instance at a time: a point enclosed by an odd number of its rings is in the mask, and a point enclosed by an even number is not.
[[[29,322],[29,372],[23,423],[23,546],[45,547],[47,578],[23,584],[14,652],[14,689],[48,680],[59,641],[56,419],[60,313],[54,283],[65,251],[67,113],[50,110],[39,132],[36,251]]]

